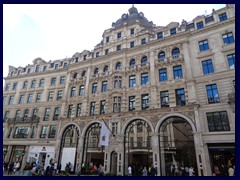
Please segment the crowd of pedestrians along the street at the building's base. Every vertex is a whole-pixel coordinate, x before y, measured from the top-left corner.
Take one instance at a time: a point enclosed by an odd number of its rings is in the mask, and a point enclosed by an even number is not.
[[[61,164],[58,164],[57,161],[51,160],[49,165],[45,168],[45,163],[42,162],[27,162],[23,170],[31,170],[32,176],[55,176],[60,175],[61,173]],[[3,172],[7,172],[7,175],[17,174],[16,172],[20,171],[20,162],[10,162],[3,163]],[[99,176],[104,175],[104,170],[102,164],[96,165],[92,164],[89,166],[88,171],[91,174],[98,174]],[[73,174],[74,167],[71,162],[66,163],[65,173]],[[88,172],[89,173],[89,172]],[[87,174],[86,165],[83,163],[79,164],[77,175]],[[157,168],[153,165],[147,168],[147,166],[128,166],[128,176],[157,176]],[[193,166],[182,166],[175,164],[168,164],[166,166],[166,176],[196,176],[197,172]],[[235,166],[230,165],[214,165],[213,166],[213,176],[235,176]]]

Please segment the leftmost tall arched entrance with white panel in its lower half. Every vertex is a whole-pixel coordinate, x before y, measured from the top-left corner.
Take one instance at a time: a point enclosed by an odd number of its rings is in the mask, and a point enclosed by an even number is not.
[[[77,147],[79,140],[79,129],[74,124],[71,124],[65,128],[63,131],[60,153],[59,153],[59,163],[61,164],[61,170],[65,171],[67,163],[71,163],[69,172],[75,173],[77,166]]]

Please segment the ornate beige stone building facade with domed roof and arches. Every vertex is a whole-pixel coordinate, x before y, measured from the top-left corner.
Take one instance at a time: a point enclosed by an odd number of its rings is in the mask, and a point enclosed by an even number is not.
[[[235,6],[191,22],[156,26],[135,7],[93,50],[15,68],[3,92],[3,158],[73,171],[104,165],[134,174],[141,166],[235,164]],[[101,123],[109,146],[99,147]]]

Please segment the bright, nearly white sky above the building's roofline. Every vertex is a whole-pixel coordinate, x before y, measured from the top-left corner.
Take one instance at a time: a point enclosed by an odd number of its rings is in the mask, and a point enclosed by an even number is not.
[[[46,61],[93,50],[104,30],[131,4],[3,4],[3,77],[8,66],[25,67],[41,57]],[[224,4],[136,4],[138,12],[157,26],[191,21]],[[174,12],[174,13],[173,13]]]

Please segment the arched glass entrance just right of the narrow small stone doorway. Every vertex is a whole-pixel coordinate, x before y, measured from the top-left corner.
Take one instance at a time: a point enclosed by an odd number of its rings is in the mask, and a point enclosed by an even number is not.
[[[128,124],[124,132],[124,174],[132,166],[132,174],[141,176],[141,169],[152,164],[152,131],[150,125],[141,119]]]

